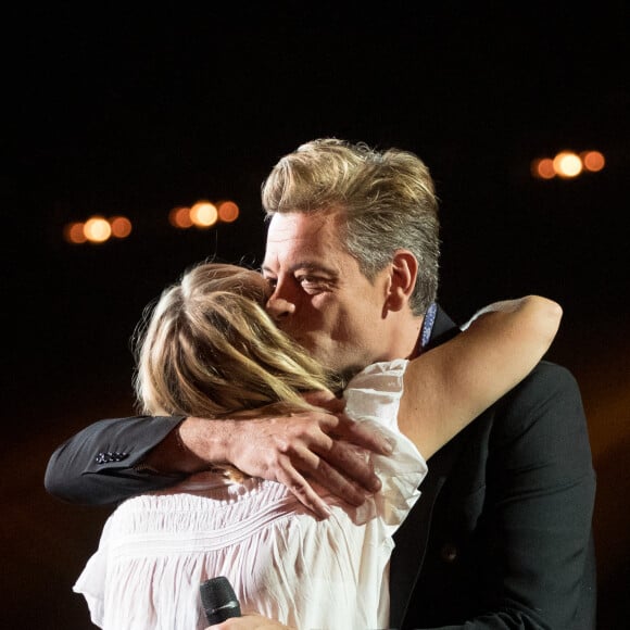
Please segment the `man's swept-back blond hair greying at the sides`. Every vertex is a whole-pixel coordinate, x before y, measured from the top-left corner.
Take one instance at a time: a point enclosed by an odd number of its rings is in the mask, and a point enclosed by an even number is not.
[[[429,169],[414,153],[313,140],[279,160],[263,184],[262,199],[267,217],[341,211],[341,241],[370,281],[396,250],[410,250],[419,267],[412,311],[423,315],[436,300],[438,198]]]

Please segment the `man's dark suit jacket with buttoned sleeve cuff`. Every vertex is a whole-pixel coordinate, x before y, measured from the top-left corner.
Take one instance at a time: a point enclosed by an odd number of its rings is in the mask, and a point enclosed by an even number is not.
[[[438,311],[431,345],[458,329]],[[60,446],[48,491],[115,503],[179,477],[135,466],[181,418],[96,423]],[[595,627],[595,479],[575,379],[541,363],[436,453],[395,534],[392,628]]]

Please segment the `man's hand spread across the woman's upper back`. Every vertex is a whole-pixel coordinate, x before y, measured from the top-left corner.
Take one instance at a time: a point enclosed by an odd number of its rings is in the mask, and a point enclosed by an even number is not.
[[[324,400],[319,394],[311,395],[310,402],[332,411],[238,420],[190,417],[179,426],[179,437],[189,461],[197,458],[197,469],[230,463],[252,477],[284,483],[301,503],[326,518],[329,509],[312,483],[361,505],[380,488],[366,454],[387,455],[391,444],[374,428],[345,416],[342,401]]]

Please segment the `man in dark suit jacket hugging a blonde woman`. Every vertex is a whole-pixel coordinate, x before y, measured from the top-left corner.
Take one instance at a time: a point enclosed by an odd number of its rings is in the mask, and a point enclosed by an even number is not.
[[[268,310],[328,367],[351,376],[458,331],[434,305],[438,204],[415,155],[310,142],[275,166],[263,204]],[[47,488],[106,503],[230,462],[286,483],[323,516],[311,481],[354,503],[376,490],[339,438],[387,446],[342,414],[251,423],[103,420],[55,452]],[[542,362],[430,458],[421,490],[395,537],[392,628],[594,628],[595,482],[566,369]]]

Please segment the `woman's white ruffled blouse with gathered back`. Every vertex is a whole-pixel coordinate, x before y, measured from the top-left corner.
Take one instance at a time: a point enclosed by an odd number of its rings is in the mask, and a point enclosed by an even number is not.
[[[373,455],[382,489],[360,508],[327,496],[318,520],[280,483],[194,475],[125,501],[74,585],[108,630],[207,626],[199,587],[226,576],[241,610],[306,629],[366,630],[389,621],[393,532],[419,496],[427,466],[398,429],[406,361],[379,363],[346,388],[349,416],[394,442]],[[378,425],[378,426],[376,426]]]

